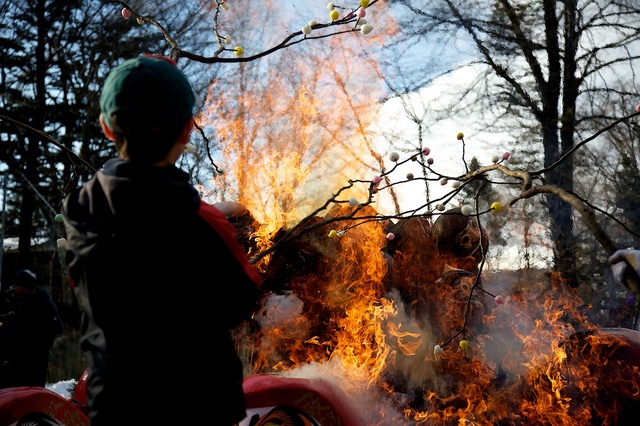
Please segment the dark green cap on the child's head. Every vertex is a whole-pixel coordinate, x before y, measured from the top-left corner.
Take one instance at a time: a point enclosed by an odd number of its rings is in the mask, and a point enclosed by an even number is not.
[[[104,82],[100,112],[110,128],[118,113],[139,129],[184,125],[193,113],[195,95],[189,81],[165,57],[140,56],[114,68]]]

